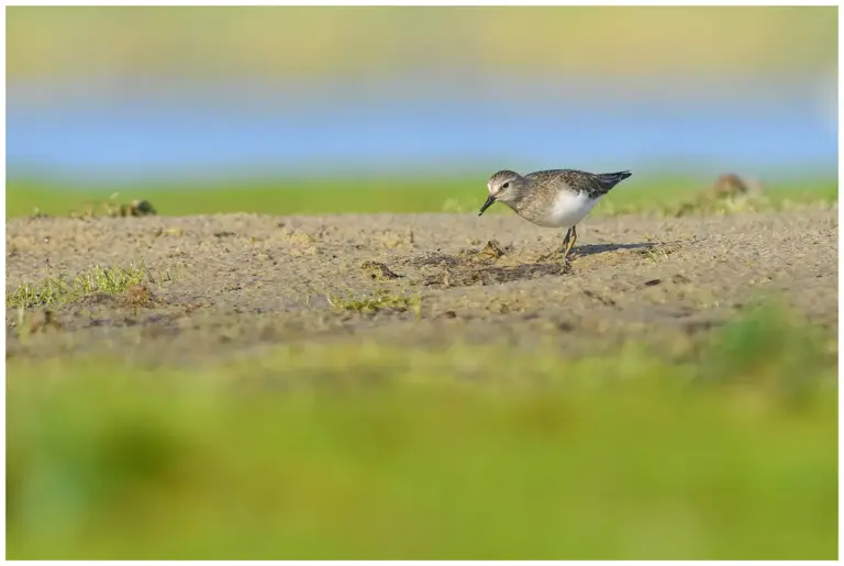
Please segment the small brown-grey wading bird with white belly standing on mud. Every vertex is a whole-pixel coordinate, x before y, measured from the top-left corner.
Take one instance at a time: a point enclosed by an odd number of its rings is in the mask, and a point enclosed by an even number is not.
[[[593,174],[549,169],[522,176],[509,169],[500,170],[487,182],[489,197],[478,215],[495,202],[502,202],[537,226],[568,229],[560,248],[565,260],[577,241],[577,223],[601,197],[631,175],[630,171]]]

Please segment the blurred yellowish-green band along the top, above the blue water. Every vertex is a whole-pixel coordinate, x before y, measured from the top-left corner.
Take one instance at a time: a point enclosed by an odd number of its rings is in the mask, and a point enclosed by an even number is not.
[[[436,66],[492,75],[824,74],[836,68],[836,15],[834,7],[14,7],[8,71],[314,81]]]

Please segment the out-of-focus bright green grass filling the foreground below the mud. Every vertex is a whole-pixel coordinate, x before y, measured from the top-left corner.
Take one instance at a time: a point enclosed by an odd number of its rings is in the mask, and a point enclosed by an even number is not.
[[[12,358],[8,557],[831,559],[835,355],[771,312],[677,363],[354,337]]]

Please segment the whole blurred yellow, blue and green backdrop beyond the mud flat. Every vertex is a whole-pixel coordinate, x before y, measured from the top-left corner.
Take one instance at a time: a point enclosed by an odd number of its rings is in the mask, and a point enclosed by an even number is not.
[[[355,189],[360,202],[381,201],[370,187],[386,184],[464,198],[501,168],[632,169],[631,193],[728,171],[829,188],[836,18],[834,7],[14,7],[9,213],[114,190],[167,213],[175,185],[213,186],[232,197],[219,211],[252,211],[255,184],[273,189],[260,210],[329,212],[337,199],[303,185]],[[442,210],[427,197],[413,210]]]

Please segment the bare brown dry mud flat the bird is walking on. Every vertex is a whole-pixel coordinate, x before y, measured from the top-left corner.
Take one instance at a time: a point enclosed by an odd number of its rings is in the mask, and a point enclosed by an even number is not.
[[[303,340],[580,354],[633,339],[670,351],[760,297],[837,330],[836,207],[596,218],[578,232],[564,265],[543,257],[562,232],[510,213],[15,219],[7,295],[142,263],[151,295],[76,298],[34,333],[21,330],[45,308],[24,324],[7,308],[7,357],[111,352],[155,364]]]

